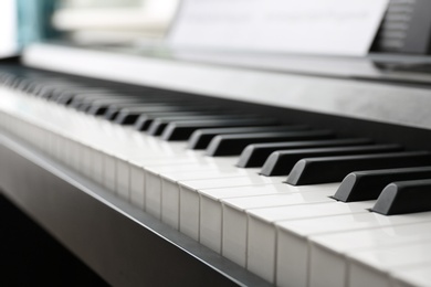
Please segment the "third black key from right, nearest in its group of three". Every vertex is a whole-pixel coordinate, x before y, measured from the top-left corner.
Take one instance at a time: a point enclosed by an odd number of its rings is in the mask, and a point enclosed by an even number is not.
[[[431,153],[429,151],[308,158],[296,162],[286,182],[293,185],[337,182],[357,170],[423,166],[431,166]]]

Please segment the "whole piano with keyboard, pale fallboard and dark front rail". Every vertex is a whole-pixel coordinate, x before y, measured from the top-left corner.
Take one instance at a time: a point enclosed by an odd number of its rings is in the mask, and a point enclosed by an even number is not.
[[[249,56],[31,45],[1,192],[114,286],[430,286],[428,57]]]

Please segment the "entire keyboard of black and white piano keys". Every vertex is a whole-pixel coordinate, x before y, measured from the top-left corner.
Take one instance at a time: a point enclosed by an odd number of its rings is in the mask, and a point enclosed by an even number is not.
[[[271,284],[431,286],[429,151],[174,92],[0,82],[7,135]]]

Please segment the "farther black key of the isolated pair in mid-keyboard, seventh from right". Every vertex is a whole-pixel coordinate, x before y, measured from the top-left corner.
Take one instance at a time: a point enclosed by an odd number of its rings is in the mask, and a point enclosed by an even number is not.
[[[262,126],[253,126],[253,127],[198,129],[190,136],[188,148],[195,150],[206,149],[210,144],[211,139],[218,135],[282,131],[285,127],[286,126],[262,125]]]

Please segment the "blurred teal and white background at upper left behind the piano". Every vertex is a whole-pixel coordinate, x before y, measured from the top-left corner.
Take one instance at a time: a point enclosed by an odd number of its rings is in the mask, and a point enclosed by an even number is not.
[[[178,0],[1,0],[0,57],[52,39],[135,44],[167,34]]]

